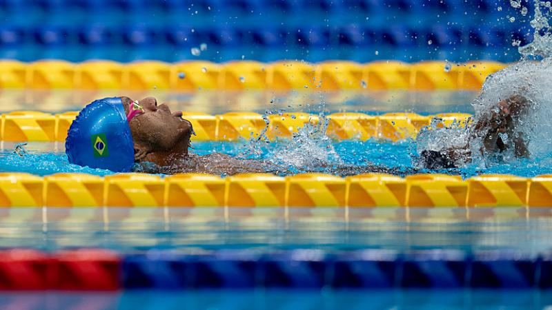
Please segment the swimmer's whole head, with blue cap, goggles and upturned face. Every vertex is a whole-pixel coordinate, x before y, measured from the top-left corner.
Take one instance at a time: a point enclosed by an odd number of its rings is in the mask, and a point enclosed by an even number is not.
[[[130,172],[143,160],[167,165],[188,154],[193,129],[181,115],[152,97],[94,101],[71,124],[66,154],[70,163],[113,172]]]

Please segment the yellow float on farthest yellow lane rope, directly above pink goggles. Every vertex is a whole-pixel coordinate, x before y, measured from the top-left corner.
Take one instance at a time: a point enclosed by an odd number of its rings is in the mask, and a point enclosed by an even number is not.
[[[170,88],[171,66],[161,61],[139,61],[123,67],[125,90],[166,90]]]

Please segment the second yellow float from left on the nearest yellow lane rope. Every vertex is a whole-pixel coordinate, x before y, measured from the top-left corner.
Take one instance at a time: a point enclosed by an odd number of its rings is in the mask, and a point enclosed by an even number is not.
[[[90,174],[53,174],[44,178],[48,207],[102,207],[103,178]]]

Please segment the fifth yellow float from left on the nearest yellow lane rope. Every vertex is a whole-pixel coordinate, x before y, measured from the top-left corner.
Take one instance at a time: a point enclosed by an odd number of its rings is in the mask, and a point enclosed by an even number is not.
[[[228,207],[284,207],[286,180],[272,174],[237,174],[228,178]]]

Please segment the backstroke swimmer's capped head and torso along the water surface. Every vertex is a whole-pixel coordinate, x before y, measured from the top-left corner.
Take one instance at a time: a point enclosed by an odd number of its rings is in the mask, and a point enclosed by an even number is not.
[[[153,97],[140,101],[126,96],[106,98],[87,105],[73,121],[66,138],[66,154],[70,163],[113,172],[289,174],[286,167],[268,161],[220,153],[193,154],[189,149],[194,134],[192,123],[182,118],[182,112],[172,112]],[[339,175],[408,173],[373,165],[319,168],[316,171]]]

